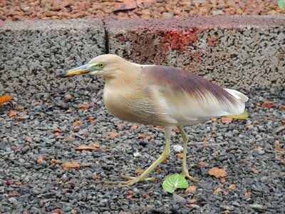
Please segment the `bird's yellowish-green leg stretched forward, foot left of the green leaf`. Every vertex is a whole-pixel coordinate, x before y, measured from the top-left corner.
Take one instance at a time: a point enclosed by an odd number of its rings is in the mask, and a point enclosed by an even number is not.
[[[123,176],[123,178],[128,179],[127,181],[110,181],[110,182],[105,182],[105,184],[123,184],[123,186],[128,186],[128,185],[134,185],[135,183],[138,183],[139,181],[144,181],[144,180],[153,180],[153,178],[145,178],[147,175],[149,175],[156,167],[157,165],[160,165],[162,161],[164,161],[169,155],[170,155],[170,134],[171,134],[171,127],[165,127],[165,149],[162,151],[162,154],[160,157],[150,165],[147,170],[145,170],[138,178],[134,177],[128,177],[128,176]]]

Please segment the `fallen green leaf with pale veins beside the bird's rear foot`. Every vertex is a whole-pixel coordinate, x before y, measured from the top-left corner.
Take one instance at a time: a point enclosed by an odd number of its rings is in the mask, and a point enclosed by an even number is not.
[[[167,177],[163,183],[162,188],[168,193],[174,193],[177,188],[188,188],[188,182],[184,176],[175,174]]]

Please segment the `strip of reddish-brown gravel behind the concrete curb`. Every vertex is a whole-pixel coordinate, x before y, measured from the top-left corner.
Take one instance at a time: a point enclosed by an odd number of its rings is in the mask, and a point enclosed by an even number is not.
[[[285,14],[276,0],[1,0],[0,21]]]

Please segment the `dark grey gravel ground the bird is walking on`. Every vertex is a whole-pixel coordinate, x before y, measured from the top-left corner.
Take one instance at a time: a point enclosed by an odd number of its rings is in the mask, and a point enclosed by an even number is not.
[[[135,175],[164,146],[160,128],[110,116],[100,88],[102,81],[93,80],[92,88],[12,94],[16,108],[0,106],[0,213],[284,213],[284,152],[275,144],[285,147],[285,86],[243,91],[250,98],[247,121],[218,119],[186,127],[188,167],[202,183],[189,182],[195,193],[176,190],[173,195],[162,190],[162,180],[181,170],[173,149],[167,163],[151,174],[155,182],[123,189],[100,183]],[[263,107],[265,101],[274,106]],[[94,105],[83,110],[82,104],[89,103]],[[83,124],[73,126],[76,121]],[[101,150],[74,149],[96,142]],[[172,148],[181,143],[173,131]],[[52,159],[59,163],[53,165]],[[61,164],[68,161],[77,161],[80,169],[63,170]],[[213,167],[224,168],[227,176],[209,176]]]

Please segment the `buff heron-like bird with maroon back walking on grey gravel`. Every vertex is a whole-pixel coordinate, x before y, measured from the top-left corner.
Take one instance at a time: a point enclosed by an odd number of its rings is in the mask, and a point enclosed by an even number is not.
[[[99,76],[105,80],[103,101],[107,110],[123,121],[162,126],[165,148],[140,176],[106,184],[130,186],[144,180],[168,156],[170,136],[177,127],[182,135],[182,175],[199,182],[187,168],[188,136],[182,126],[204,123],[210,118],[239,115],[248,97],[234,89],[222,88],[202,76],[171,66],[141,65],[115,54],[103,54],[83,66],[58,74],[58,78],[78,75]]]

